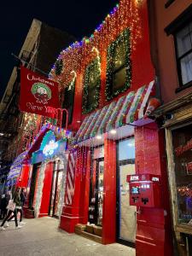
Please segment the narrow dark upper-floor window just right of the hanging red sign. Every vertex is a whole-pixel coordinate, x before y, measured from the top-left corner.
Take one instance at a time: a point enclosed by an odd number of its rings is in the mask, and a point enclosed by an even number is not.
[[[68,125],[73,121],[73,104],[74,104],[74,92],[75,92],[75,79],[64,90],[64,100],[62,102],[62,108],[66,108],[68,111]],[[62,127],[66,126],[66,112],[63,112]]]

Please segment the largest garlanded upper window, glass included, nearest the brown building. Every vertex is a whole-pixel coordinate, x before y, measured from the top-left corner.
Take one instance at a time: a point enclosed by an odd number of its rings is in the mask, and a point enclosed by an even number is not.
[[[131,86],[130,30],[125,29],[108,47],[106,98],[113,99]]]

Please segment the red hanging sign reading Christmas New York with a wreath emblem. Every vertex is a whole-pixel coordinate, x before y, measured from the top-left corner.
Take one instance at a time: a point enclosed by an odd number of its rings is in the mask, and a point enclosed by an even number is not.
[[[26,67],[20,67],[20,111],[53,118],[59,103],[58,84]]]

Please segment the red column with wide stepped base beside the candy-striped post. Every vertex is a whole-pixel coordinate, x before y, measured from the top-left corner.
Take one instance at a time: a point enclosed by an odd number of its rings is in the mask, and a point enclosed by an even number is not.
[[[88,160],[89,159],[89,160]],[[88,172],[87,172],[88,170]],[[78,148],[78,156],[74,172],[73,201],[65,206],[61,214],[60,228],[73,233],[76,224],[87,223],[89,207],[89,179],[90,179],[90,152],[89,148]],[[68,180],[67,180],[68,182]],[[66,190],[67,193],[67,190]]]

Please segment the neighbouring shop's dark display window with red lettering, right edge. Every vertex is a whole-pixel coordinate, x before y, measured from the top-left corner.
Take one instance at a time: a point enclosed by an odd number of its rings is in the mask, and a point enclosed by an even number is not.
[[[177,223],[192,227],[192,125],[172,131],[177,189]]]

